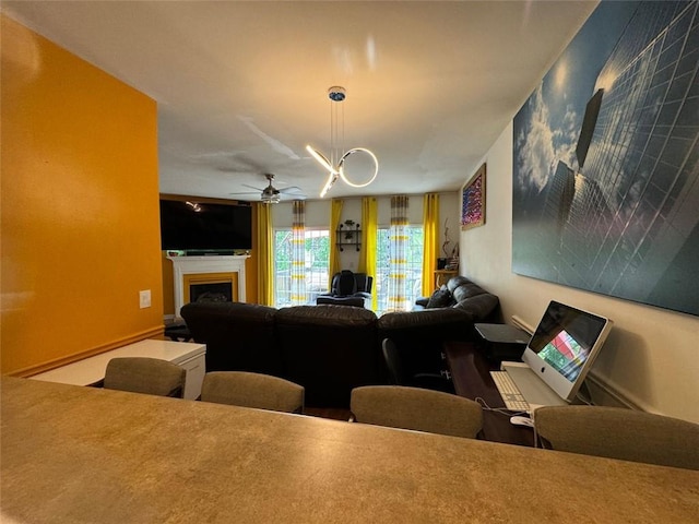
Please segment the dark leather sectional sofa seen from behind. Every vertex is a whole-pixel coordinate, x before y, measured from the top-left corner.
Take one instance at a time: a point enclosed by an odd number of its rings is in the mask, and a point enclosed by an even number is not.
[[[477,286],[471,293],[486,295]],[[464,303],[379,318],[345,306],[275,309],[242,302],[188,303],[181,315],[194,341],[206,344],[206,371],[282,377],[306,388],[307,406],[348,407],[353,388],[387,383],[383,338],[395,342],[408,372],[438,372],[445,341],[472,340],[474,322],[499,314],[497,297],[489,297],[472,309]]]

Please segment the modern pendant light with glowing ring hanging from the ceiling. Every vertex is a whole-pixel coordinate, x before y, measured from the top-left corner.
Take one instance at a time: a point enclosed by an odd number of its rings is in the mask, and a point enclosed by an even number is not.
[[[346,95],[346,90],[339,85],[334,85],[328,90],[328,98],[330,98],[330,159],[310,144],[306,145],[306,151],[308,151],[311,156],[329,171],[328,180],[325,180],[325,183],[320,191],[321,199],[325,196],[325,193],[328,193],[330,188],[332,188],[337,181],[337,178],[342,178],[347,186],[352,186],[353,188],[364,188],[370,184],[379,172],[379,160],[366,147],[353,147],[345,152],[344,143],[337,143],[340,132],[342,132],[342,140],[344,141],[344,110],[340,117],[339,112],[340,105],[345,99]],[[345,160],[350,155],[355,153],[365,153],[374,160],[374,175],[362,183],[353,182],[345,175]]]

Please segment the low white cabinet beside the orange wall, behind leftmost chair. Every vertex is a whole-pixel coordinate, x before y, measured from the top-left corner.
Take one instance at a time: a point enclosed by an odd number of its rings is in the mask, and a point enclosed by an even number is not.
[[[146,340],[128,344],[76,362],[51,369],[32,377],[34,380],[60,382],[61,384],[94,385],[105,378],[107,364],[117,357],[151,357],[175,362],[185,368],[185,398],[197,398],[201,394],[204,380],[206,353],[205,344]]]

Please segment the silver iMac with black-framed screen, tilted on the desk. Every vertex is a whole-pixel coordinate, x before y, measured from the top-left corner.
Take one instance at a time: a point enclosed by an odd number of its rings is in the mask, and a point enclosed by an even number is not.
[[[522,360],[566,402],[571,402],[612,330],[612,321],[554,300]]]

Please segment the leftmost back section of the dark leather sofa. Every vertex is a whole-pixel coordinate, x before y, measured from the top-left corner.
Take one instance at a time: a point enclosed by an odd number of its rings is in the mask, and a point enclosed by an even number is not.
[[[206,344],[206,371],[281,376],[275,308],[244,302],[192,302],[180,314],[194,341]]]

